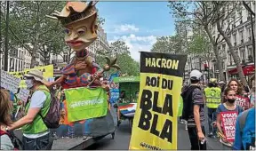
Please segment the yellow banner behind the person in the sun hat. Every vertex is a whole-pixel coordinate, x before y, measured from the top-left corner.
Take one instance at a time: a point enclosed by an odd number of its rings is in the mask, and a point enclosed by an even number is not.
[[[50,78],[50,77],[53,77],[53,65],[36,67],[36,68],[28,68],[28,69],[25,69],[24,71],[20,71],[20,72],[9,72],[9,74],[21,78],[22,80],[20,82],[20,88],[26,88],[27,85],[25,83],[25,80],[23,80],[23,75],[28,74],[28,72],[33,69],[38,69],[38,70],[42,71],[43,76],[46,80],[48,80],[48,78]]]

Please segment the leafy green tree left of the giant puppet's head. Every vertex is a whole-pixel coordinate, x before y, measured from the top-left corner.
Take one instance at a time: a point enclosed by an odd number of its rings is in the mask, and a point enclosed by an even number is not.
[[[23,47],[31,54],[31,68],[36,65],[36,52],[56,40],[62,30],[55,20],[46,15],[61,10],[65,2],[12,2],[10,5],[10,32],[17,47]],[[16,43],[14,43],[16,42]],[[42,48],[43,47],[43,48]]]

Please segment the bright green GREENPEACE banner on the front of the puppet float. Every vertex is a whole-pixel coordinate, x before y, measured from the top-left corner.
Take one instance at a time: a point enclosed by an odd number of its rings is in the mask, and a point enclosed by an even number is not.
[[[107,115],[107,92],[102,88],[67,89],[65,95],[69,122]]]

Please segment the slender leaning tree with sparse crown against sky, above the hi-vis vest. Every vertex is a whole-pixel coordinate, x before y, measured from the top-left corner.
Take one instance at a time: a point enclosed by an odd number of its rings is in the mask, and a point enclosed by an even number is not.
[[[179,22],[185,22],[190,25],[204,28],[207,36],[212,43],[212,50],[215,55],[217,68],[220,71],[220,80],[224,81],[223,69],[220,64],[220,52],[218,52],[217,45],[223,41],[220,35],[215,37],[212,35],[211,27],[214,19],[215,9],[212,8],[210,2],[196,1],[196,2],[169,2],[171,13]]]

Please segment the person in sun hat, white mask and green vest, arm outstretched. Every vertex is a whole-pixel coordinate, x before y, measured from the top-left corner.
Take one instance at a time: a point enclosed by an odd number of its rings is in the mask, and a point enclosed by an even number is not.
[[[32,91],[31,99],[25,106],[26,115],[12,123],[7,130],[22,127],[23,150],[51,150],[53,139],[41,117],[48,113],[51,105],[51,94],[44,84],[47,81],[44,80],[43,72],[39,70],[29,71],[25,78],[27,89]]]

